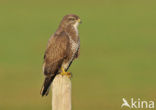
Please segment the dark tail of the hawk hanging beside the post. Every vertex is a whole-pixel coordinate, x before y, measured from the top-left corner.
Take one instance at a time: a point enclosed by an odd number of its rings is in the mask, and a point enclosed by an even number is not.
[[[55,76],[56,76],[56,75],[50,76],[50,77],[46,77],[46,78],[44,79],[44,83],[43,83],[43,86],[42,86],[41,91],[40,91],[40,94],[41,94],[42,96],[44,96],[44,95],[47,96],[47,95],[48,95],[50,85],[51,85],[52,81],[54,80]]]

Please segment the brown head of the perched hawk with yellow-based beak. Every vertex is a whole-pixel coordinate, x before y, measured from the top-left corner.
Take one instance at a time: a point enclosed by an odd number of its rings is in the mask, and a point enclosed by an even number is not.
[[[61,25],[65,28],[73,26],[78,27],[78,25],[81,23],[80,17],[75,14],[69,14],[63,17],[61,21]]]

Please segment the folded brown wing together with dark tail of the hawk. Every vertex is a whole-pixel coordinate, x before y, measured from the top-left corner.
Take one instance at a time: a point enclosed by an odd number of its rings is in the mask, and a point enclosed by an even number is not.
[[[44,54],[43,71],[46,77],[40,92],[42,96],[48,95],[49,87],[68,56],[69,49],[69,38],[65,32],[55,34],[49,39]]]

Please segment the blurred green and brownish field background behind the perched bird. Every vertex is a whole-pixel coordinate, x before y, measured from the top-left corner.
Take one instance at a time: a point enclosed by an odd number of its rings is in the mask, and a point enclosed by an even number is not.
[[[155,0],[0,0],[0,110],[51,110],[39,94],[47,41],[66,14],[81,17],[73,110],[120,110],[156,98]]]

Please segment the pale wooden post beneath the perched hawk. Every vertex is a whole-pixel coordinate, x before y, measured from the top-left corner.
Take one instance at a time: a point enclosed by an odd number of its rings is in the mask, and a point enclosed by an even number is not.
[[[52,110],[71,110],[71,80],[58,74],[52,83]]]

